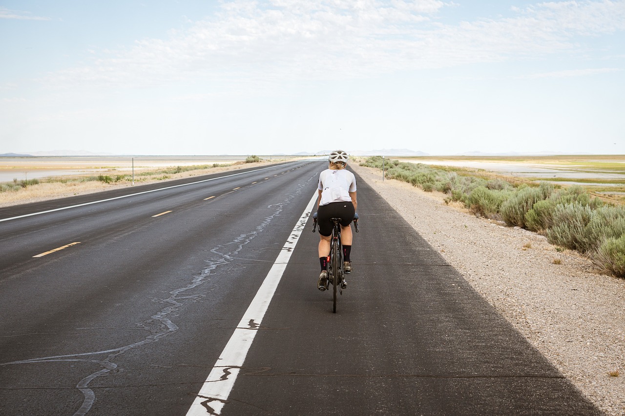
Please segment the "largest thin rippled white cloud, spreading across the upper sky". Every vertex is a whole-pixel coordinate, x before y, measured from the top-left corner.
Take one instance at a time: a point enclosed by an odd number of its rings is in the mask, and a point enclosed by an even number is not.
[[[442,24],[435,0],[236,0],[169,39],[56,72],[52,85],[193,80],[344,79],[397,70],[537,59],[583,49],[580,36],[625,29],[625,1],[544,2],[500,19]]]

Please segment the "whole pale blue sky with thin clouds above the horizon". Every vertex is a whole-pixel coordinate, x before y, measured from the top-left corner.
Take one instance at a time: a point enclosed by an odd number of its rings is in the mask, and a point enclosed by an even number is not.
[[[625,0],[0,0],[0,154],[625,154]]]

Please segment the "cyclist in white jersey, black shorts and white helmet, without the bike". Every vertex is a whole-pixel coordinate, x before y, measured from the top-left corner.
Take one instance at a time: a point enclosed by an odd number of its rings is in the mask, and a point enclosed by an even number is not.
[[[351,273],[352,231],[349,224],[356,213],[356,177],[345,169],[347,153],[334,151],[327,158],[328,169],[319,174],[319,197],[317,199],[317,224],[319,225],[319,263],[321,274],[317,281],[317,289],[326,290],[327,256],[330,253],[330,236],[332,234],[331,218],[341,218],[341,242],[343,246],[343,271]],[[347,287],[344,282],[343,287]]]

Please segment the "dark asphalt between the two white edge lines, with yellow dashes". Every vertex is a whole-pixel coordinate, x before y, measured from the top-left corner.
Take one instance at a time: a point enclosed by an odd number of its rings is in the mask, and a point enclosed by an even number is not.
[[[0,413],[184,414],[320,168],[0,222]]]

